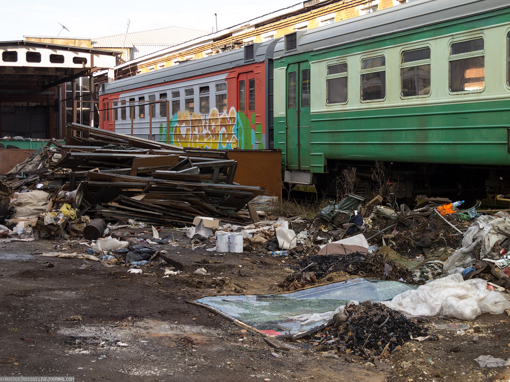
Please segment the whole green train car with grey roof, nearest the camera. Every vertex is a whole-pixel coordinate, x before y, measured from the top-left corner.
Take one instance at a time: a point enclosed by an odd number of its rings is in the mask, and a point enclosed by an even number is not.
[[[286,181],[352,166],[369,184],[384,161],[398,198],[508,185],[510,2],[416,0],[295,32],[273,65]]]

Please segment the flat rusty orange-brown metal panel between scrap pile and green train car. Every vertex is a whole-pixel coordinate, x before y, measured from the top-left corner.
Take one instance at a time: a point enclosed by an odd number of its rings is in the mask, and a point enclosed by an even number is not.
[[[282,199],[282,150],[229,150],[228,158],[237,160],[234,182],[264,187]]]

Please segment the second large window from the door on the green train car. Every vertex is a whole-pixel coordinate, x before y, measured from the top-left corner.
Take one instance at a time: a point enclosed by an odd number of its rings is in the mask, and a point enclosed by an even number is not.
[[[361,100],[372,101],[386,97],[386,59],[384,56],[362,60]]]

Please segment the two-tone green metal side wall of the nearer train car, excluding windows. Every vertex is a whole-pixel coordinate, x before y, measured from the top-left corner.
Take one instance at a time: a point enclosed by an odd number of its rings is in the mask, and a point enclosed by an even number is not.
[[[275,93],[281,96],[275,94],[275,148],[283,150],[283,167],[301,170],[305,168],[300,162],[309,163],[311,172],[323,173],[328,159],[509,166],[509,20],[508,9],[498,10],[276,60]],[[449,44],[477,37],[485,41],[485,87],[475,92],[449,93]],[[431,49],[431,92],[403,98],[401,52],[423,46]],[[363,102],[361,60],[379,54],[386,57],[386,98]],[[348,101],[326,105],[326,66],[338,60],[348,62]],[[297,139],[287,133],[289,126],[297,126],[296,117],[286,115],[288,89],[285,97],[282,90],[288,85],[289,70],[296,70],[303,62],[311,63],[311,129],[309,140],[300,135],[298,154]],[[299,118],[306,117],[301,113]],[[305,147],[306,142],[309,147]]]

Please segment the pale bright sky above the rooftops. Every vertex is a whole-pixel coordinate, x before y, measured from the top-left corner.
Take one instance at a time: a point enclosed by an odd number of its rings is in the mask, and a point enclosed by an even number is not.
[[[0,0],[0,41],[23,36],[94,38],[183,26],[212,32],[214,14],[222,30],[266,13],[300,3],[298,0]],[[256,5],[253,5],[256,4]],[[150,5],[144,6],[144,5]],[[68,30],[64,30],[61,25]]]

